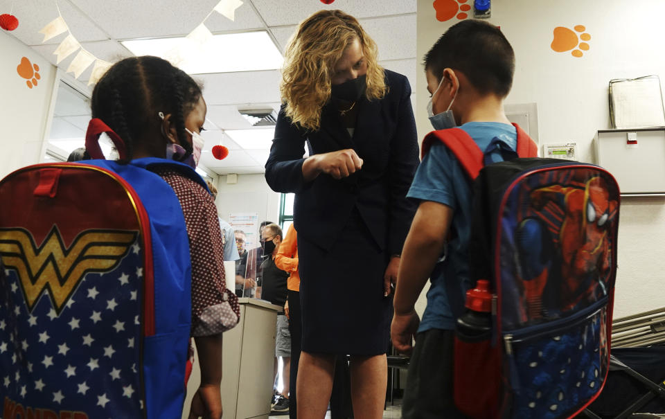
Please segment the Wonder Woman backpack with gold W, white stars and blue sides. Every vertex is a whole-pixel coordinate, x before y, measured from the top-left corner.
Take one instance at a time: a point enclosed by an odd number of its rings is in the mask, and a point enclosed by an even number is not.
[[[180,418],[188,235],[165,159],[29,166],[0,181],[3,417]],[[63,413],[64,412],[64,413]]]

